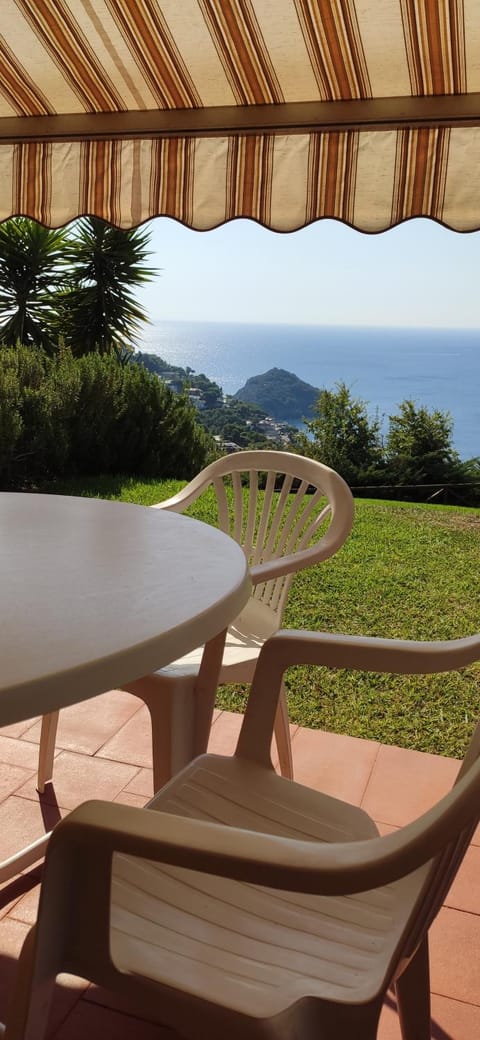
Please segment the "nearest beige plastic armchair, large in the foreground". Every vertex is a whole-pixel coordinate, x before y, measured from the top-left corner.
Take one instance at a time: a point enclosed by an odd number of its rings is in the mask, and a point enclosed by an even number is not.
[[[271,736],[291,665],[426,673],[479,657],[478,635],[268,640],[235,756],[197,758],[149,808],[90,802],[58,824],[6,1040],[42,1040],[61,971],[186,1040],[374,1040],[395,984],[403,1040],[429,1040],[427,932],[480,816],[480,724],[452,790],[385,837],[277,776]]]

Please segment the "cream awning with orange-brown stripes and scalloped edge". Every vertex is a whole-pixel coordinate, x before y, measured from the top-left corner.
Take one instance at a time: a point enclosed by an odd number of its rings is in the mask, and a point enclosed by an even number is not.
[[[480,0],[1,0],[0,219],[480,228]]]

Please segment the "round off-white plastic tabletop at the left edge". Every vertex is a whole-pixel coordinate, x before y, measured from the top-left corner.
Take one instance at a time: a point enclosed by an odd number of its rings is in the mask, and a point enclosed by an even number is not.
[[[0,725],[146,675],[218,634],[250,593],[243,550],[163,510],[0,494]]]

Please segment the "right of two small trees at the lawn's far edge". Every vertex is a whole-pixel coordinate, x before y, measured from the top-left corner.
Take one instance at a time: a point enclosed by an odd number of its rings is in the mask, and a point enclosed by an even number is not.
[[[463,464],[452,445],[448,412],[429,411],[412,400],[390,416],[386,465],[395,484],[442,484],[461,480]]]

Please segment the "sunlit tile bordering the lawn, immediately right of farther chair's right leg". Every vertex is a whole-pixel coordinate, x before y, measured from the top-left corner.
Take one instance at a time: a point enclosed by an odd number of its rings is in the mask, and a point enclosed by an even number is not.
[[[299,727],[293,739],[295,780],[359,804],[377,753],[373,740]]]

